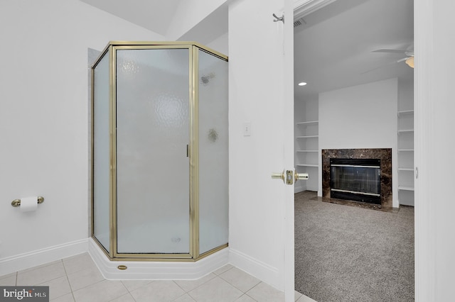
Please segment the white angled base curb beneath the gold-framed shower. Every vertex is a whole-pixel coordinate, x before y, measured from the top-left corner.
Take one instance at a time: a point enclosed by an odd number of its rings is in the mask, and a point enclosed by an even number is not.
[[[90,238],[88,250],[98,269],[109,280],[193,280],[228,264],[229,247],[197,262],[110,261]],[[127,269],[117,269],[126,265]]]

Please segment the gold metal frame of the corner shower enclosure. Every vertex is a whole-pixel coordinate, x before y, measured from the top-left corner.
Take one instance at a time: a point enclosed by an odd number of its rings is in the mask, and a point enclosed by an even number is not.
[[[189,97],[189,252],[188,253],[119,253],[117,252],[117,82],[115,80],[117,50],[154,50],[154,49],[188,49],[188,97]],[[213,248],[200,254],[199,250],[199,69],[198,69],[198,50],[203,50],[221,60],[228,61],[228,57],[211,50],[208,47],[194,42],[129,42],[129,41],[110,41],[101,52],[100,57],[92,65],[91,79],[91,155],[94,158],[94,105],[95,105],[95,68],[105,55],[109,56],[109,250],[105,248],[94,234],[95,229],[95,198],[94,198],[94,169],[95,162],[92,160],[91,171],[91,235],[100,246],[101,250],[111,260],[122,261],[177,261],[195,262],[198,259],[212,255],[223,248],[228,247],[228,243]]]

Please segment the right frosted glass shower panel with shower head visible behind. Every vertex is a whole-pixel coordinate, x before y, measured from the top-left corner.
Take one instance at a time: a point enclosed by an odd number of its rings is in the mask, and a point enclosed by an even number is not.
[[[199,50],[199,252],[228,243],[228,62]]]

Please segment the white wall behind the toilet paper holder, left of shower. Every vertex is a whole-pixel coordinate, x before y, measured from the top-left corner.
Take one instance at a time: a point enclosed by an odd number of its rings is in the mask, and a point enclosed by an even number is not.
[[[77,0],[0,1],[0,27],[1,262],[87,238],[87,47],[164,37]]]

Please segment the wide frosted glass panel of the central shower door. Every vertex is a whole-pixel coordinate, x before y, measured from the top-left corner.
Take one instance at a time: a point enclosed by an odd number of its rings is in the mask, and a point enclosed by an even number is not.
[[[189,50],[117,50],[117,252],[189,253]]]

